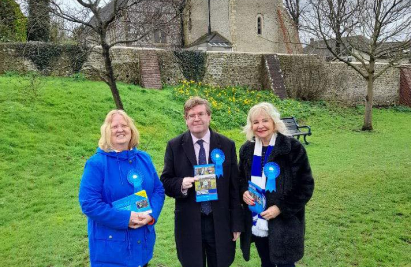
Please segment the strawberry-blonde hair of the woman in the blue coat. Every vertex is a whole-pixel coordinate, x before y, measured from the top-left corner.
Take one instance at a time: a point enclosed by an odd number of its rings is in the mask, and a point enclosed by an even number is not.
[[[131,130],[131,139],[128,144],[128,149],[133,147],[137,147],[139,144],[139,131],[137,130],[134,120],[130,118],[124,110],[111,110],[108,112],[107,116],[105,116],[104,123],[100,128],[100,133],[102,134],[99,140],[99,147],[103,149],[105,152],[109,152],[114,150],[113,144],[111,143],[111,122],[113,120],[114,115],[121,115],[123,116],[124,120],[127,122],[127,126],[130,127]]]

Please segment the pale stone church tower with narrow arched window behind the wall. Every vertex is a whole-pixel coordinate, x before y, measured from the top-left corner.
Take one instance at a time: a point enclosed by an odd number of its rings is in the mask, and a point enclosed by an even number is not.
[[[207,39],[210,25],[218,42],[225,41],[232,51],[302,52],[301,45],[296,44],[299,43],[297,28],[282,0],[209,0],[209,3],[210,12],[208,0],[187,0],[183,16],[186,47],[200,49],[204,42],[215,45],[211,38]],[[208,45],[207,50],[213,49]]]

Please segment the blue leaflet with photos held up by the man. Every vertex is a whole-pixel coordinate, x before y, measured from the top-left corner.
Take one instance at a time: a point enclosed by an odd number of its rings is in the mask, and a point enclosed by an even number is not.
[[[197,202],[218,199],[214,164],[194,166],[194,177],[198,178],[194,182]]]

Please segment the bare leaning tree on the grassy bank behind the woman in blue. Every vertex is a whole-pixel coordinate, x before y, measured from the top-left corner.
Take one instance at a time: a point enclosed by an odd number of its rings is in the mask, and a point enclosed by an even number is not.
[[[169,27],[179,23],[180,0],[77,0],[79,8],[67,6],[64,1],[50,0],[51,12],[72,22],[82,42],[101,46],[104,70],[97,70],[111,90],[115,105],[123,109],[116,85],[110,49],[115,45],[148,46],[152,43],[173,41]],[[156,42],[154,35],[159,34]],[[161,38],[162,37],[162,38]],[[164,38],[165,37],[165,38]],[[167,37],[169,39],[167,39]],[[169,42],[169,43],[170,43]],[[172,42],[171,42],[172,43]],[[180,44],[180,43],[179,43]]]

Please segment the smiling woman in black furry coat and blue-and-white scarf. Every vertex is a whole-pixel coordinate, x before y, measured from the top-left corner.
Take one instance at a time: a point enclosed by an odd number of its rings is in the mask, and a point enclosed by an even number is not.
[[[243,257],[250,260],[254,242],[261,267],[295,267],[304,255],[304,212],[314,189],[306,150],[288,136],[270,103],[250,109],[244,132],[248,141],[240,148],[239,163]]]

